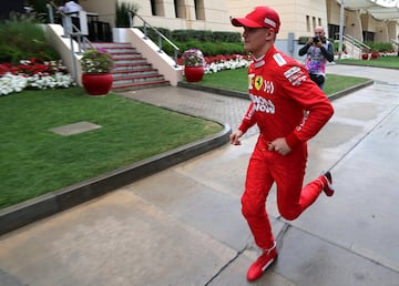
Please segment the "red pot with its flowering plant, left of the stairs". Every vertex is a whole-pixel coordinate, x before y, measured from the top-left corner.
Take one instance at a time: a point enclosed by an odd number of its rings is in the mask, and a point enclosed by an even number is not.
[[[80,60],[82,84],[90,95],[104,95],[112,86],[113,59],[104,49],[90,49]]]

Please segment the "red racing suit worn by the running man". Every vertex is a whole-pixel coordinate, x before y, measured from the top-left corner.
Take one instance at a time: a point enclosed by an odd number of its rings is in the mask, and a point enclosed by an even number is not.
[[[274,245],[265,208],[272,185],[276,182],[278,211],[286,219],[298,217],[321,192],[319,178],[303,188],[307,141],[334,109],[306,69],[275,47],[249,65],[248,84],[252,102],[238,129],[245,133],[257,124],[260,134],[248,164],[242,212],[256,244],[267,249]],[[291,149],[287,155],[268,151],[267,143],[278,137]]]

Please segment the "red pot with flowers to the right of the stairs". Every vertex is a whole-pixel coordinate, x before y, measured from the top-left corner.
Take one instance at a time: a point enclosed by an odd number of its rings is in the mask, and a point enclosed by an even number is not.
[[[182,54],[184,75],[187,82],[202,81],[205,73],[205,58],[201,50],[190,49]]]

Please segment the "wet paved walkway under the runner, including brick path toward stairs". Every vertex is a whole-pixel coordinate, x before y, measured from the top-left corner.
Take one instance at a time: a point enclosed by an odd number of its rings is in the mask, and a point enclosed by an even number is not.
[[[399,71],[329,65],[371,86],[334,101],[306,180],[332,168],[337,194],[298,219],[267,203],[279,258],[254,284],[258,251],[241,215],[256,141],[228,144],[0,236],[0,285],[399,285]],[[126,96],[236,127],[248,101],[180,88]]]

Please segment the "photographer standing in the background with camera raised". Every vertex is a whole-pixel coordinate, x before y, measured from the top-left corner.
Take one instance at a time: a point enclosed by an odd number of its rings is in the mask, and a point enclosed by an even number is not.
[[[308,39],[307,43],[299,49],[298,54],[306,54],[305,67],[310,79],[323,90],[327,61],[334,61],[334,48],[326,39],[326,32],[321,25],[315,28],[315,37]]]

